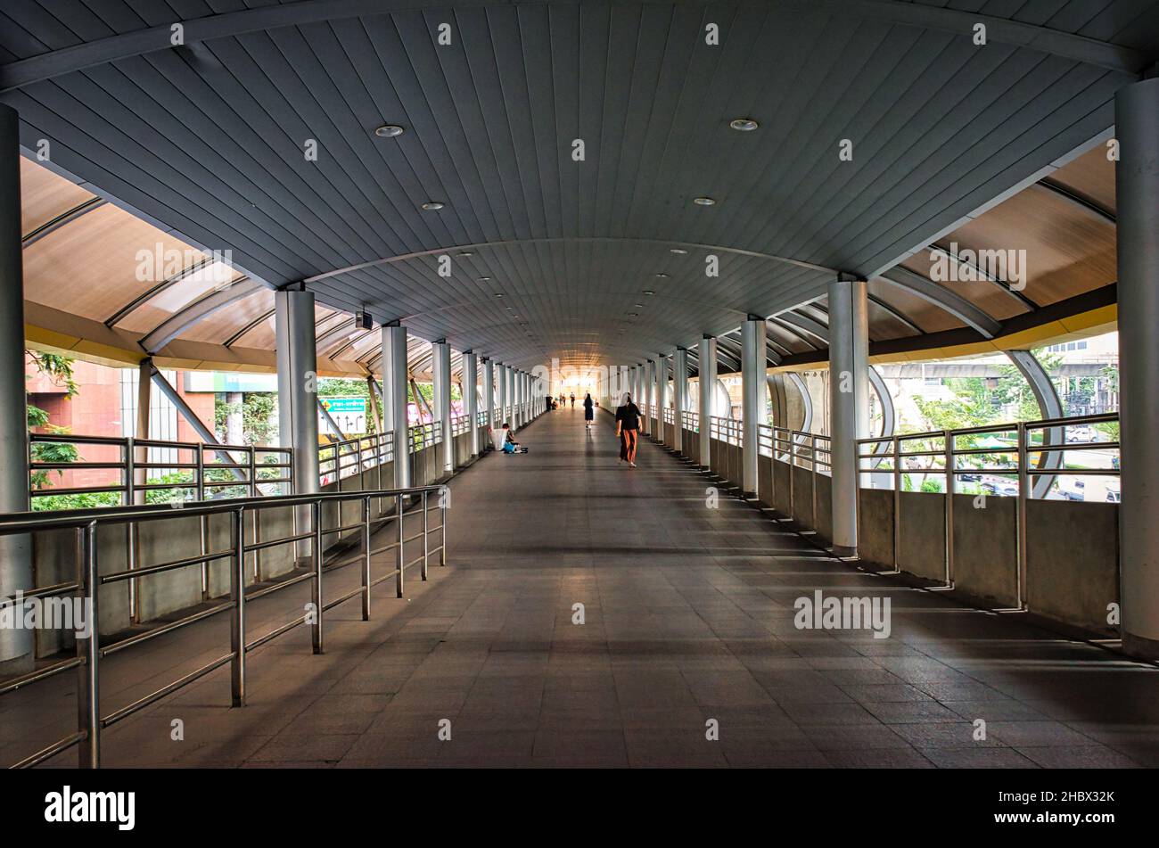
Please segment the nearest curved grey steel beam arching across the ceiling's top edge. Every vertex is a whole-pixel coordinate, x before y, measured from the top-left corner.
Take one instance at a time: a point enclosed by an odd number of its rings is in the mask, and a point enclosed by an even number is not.
[[[1130,47],[1072,35],[1048,27],[1012,21],[993,15],[902,2],[901,0],[787,0],[783,5],[806,6],[843,16],[877,20],[904,27],[940,30],[971,37],[978,23],[986,27],[991,43],[1028,47],[1137,76],[1154,61],[1153,57]],[[486,6],[484,0],[459,0],[454,6]],[[382,15],[408,9],[423,9],[436,3],[415,0],[301,0],[278,6],[264,6],[240,12],[227,12],[158,27],[99,38],[41,56],[0,66],[0,92],[39,82],[61,74],[82,71],[131,56],[152,53],[173,47],[173,24],[183,28],[185,45],[213,38],[228,38],[263,29],[301,27],[321,21],[335,21],[362,15]]]

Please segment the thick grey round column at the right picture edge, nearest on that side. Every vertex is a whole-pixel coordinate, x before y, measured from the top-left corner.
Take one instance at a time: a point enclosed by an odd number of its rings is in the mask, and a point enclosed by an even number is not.
[[[1118,89],[1120,592],[1123,650],[1159,658],[1159,79]]]

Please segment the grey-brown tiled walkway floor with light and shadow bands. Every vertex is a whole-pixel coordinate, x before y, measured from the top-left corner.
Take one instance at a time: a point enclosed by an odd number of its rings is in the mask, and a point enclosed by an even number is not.
[[[305,633],[260,649],[245,709],[219,672],[127,719],[105,763],[1159,766],[1159,670],[857,572],[730,497],[709,509],[706,478],[647,441],[618,466],[606,415],[588,432],[560,410],[523,440],[453,481],[451,564],[408,600],[334,611],[325,656]],[[815,589],[889,597],[890,637],[797,629]],[[117,671],[119,704],[140,674]]]

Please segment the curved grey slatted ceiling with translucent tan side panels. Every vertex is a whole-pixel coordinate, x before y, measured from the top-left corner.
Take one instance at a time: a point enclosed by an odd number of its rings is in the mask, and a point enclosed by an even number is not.
[[[838,272],[870,279],[880,353],[1008,338],[1114,302],[1091,148],[1159,56],[1159,3],[1124,0],[190,0],[180,47],[140,6],[5,5],[0,100],[51,151],[22,169],[34,341],[184,367],[271,367],[272,290],[302,282],[326,373],[373,367],[358,308],[526,370],[761,314],[771,361],[807,363]],[[952,244],[1026,249],[1026,287],[932,282]],[[143,282],[156,246],[188,261]]]

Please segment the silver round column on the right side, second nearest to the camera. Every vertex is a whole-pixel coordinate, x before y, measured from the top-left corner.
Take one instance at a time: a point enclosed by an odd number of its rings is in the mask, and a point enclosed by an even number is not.
[[[869,326],[863,280],[829,284],[833,553],[858,553],[858,439],[869,436]]]

